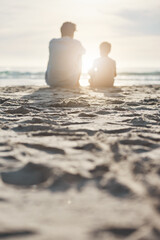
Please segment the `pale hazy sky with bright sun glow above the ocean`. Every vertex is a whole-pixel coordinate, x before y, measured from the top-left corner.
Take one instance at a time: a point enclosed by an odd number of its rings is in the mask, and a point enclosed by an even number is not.
[[[159,0],[0,0],[0,66],[46,68],[48,43],[77,24],[86,71],[103,41],[119,68],[160,68]]]

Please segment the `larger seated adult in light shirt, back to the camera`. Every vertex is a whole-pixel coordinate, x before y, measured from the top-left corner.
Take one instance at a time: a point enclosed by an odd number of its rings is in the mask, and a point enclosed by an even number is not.
[[[81,75],[81,60],[85,49],[74,38],[76,25],[63,23],[61,38],[54,38],[49,43],[49,61],[46,82],[51,87],[76,87]]]

